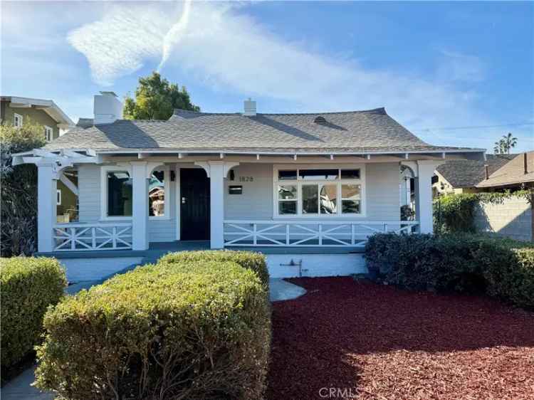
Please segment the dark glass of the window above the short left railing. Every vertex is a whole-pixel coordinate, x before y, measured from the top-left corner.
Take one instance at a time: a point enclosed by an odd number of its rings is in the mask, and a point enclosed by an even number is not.
[[[132,178],[127,171],[108,171],[107,216],[132,216]]]

